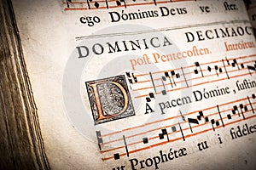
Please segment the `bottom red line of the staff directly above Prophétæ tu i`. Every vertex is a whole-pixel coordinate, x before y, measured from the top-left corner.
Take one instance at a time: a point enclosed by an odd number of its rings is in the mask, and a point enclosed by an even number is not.
[[[248,116],[248,117],[246,117],[245,119],[239,119],[239,120],[236,120],[236,121],[234,121],[234,122],[229,122],[229,123],[226,123],[225,126],[229,126],[229,125],[234,124],[234,123],[236,123],[236,122],[243,122],[243,121],[248,120],[248,119],[251,119],[251,118],[253,118],[253,117],[255,117],[255,116],[256,116],[256,115]],[[219,127],[221,127],[221,126],[219,126]],[[217,128],[219,128],[219,127],[215,127],[215,129],[217,129]],[[193,137],[193,136],[198,135],[198,134],[201,134],[201,133],[207,133],[208,131],[212,131],[212,128],[208,128],[208,129],[203,130],[203,131],[198,132],[198,133],[188,134],[188,135],[184,136],[184,138],[187,139],[187,138],[189,138],[189,137]],[[180,138],[177,138],[177,139],[171,139],[171,140],[169,140],[169,142],[168,142],[168,141],[160,142],[160,143],[158,143],[158,144],[152,144],[152,145],[149,145],[149,146],[147,146],[147,147],[143,147],[143,148],[140,148],[140,149],[137,149],[137,150],[131,150],[131,151],[129,151],[129,154],[136,153],[136,152],[138,152],[138,151],[148,150],[148,149],[154,148],[154,147],[156,147],[156,146],[160,146],[160,145],[167,144],[167,143],[174,142],[174,141],[181,140],[181,139],[183,139],[183,138],[180,137]],[[119,156],[125,156],[125,155],[126,155],[126,154],[123,153],[123,154],[120,154]],[[102,161],[108,161],[109,159],[113,159],[113,156],[106,157],[106,158],[102,158]]]

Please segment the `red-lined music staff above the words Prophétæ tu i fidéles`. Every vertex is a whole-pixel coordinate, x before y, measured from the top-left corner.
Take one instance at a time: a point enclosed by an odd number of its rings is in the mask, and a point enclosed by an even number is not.
[[[212,105],[200,111],[182,113],[162,120],[129,127],[113,133],[96,131],[102,161],[118,160],[122,156],[149,150],[175,141],[216,131],[236,122],[253,119],[256,116],[256,96],[251,94],[241,99],[220,105]],[[177,120],[173,122],[173,120]]]

